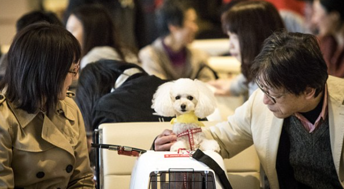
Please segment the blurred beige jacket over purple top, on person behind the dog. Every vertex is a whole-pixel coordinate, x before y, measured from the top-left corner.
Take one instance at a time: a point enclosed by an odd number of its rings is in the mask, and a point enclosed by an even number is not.
[[[140,50],[139,59],[144,71],[161,79],[190,78],[204,82],[215,79],[213,72],[208,68],[201,69],[204,65],[207,65],[208,55],[206,52],[193,48],[187,48],[186,50],[185,66],[175,68],[163,47],[161,38],[158,38],[151,45]]]

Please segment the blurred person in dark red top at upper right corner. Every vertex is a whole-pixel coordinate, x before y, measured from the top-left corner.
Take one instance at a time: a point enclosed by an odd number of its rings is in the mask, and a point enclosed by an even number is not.
[[[312,22],[328,73],[344,77],[344,0],[314,0]]]

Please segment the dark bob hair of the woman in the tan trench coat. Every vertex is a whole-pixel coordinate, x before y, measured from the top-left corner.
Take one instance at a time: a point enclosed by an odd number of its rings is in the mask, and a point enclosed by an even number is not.
[[[72,63],[81,49],[65,28],[41,22],[19,31],[8,51],[8,67],[2,86],[17,108],[29,114],[40,108],[54,111]]]

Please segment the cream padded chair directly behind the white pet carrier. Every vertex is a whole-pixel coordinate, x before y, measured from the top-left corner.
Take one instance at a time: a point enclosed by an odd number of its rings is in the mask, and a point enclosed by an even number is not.
[[[206,126],[214,122],[204,121]],[[149,150],[155,137],[169,122],[105,123],[98,129],[99,143],[116,144]],[[100,189],[129,189],[130,175],[136,157],[118,155],[116,151],[100,149]],[[225,160],[233,189],[259,189],[259,160],[253,146]]]

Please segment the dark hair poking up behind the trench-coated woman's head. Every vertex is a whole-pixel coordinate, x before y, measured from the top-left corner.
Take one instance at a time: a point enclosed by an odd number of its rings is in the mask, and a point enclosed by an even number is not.
[[[42,21],[46,21],[50,24],[57,24],[63,26],[62,22],[57,18],[57,15],[53,12],[32,11],[18,19],[16,23],[17,32],[19,32],[21,29],[28,26],[29,24]]]

